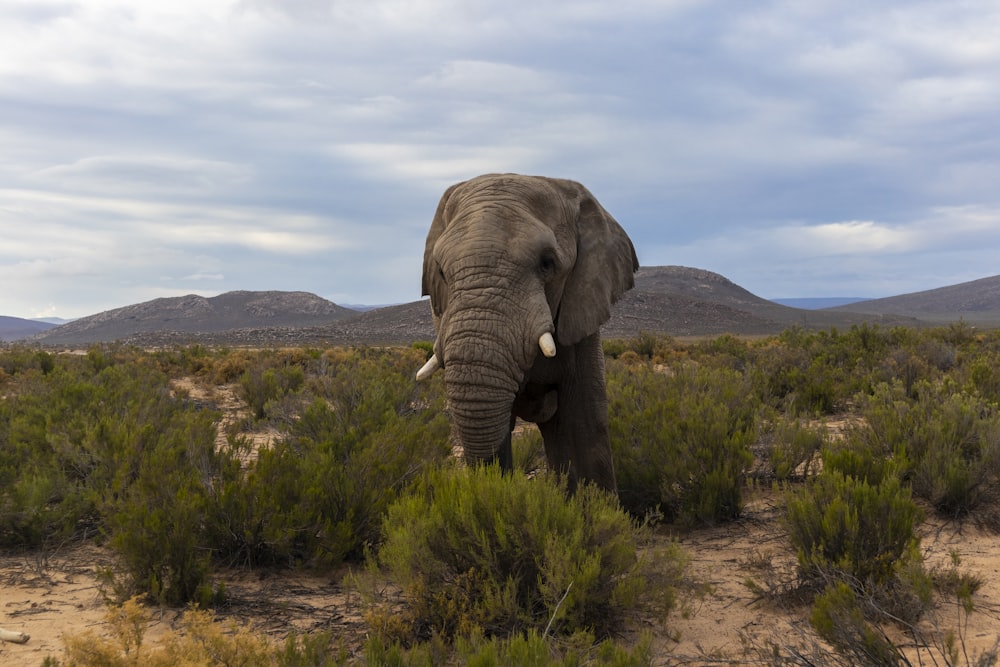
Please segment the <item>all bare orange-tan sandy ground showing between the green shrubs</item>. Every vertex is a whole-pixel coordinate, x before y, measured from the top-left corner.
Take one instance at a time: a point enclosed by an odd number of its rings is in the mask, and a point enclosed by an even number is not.
[[[961,354],[961,341],[950,341],[947,337],[944,340],[946,345],[956,348],[956,354]],[[789,347],[795,343],[795,340],[784,341]],[[732,348],[740,345],[732,340],[708,344],[712,355],[737,357],[740,350],[734,352]],[[705,358],[698,358],[695,351],[676,343],[646,340],[633,348],[611,349],[609,353],[624,357],[625,366],[647,364],[654,372],[666,376],[672,374],[672,368],[684,363],[708,363]],[[977,357],[978,366],[966,362],[970,381],[983,394],[992,396],[994,405],[1000,378],[994,379],[982,368],[996,368],[995,348],[994,343],[985,356]],[[947,351],[942,353],[937,348],[932,352],[947,356]],[[870,361],[869,370],[887,377],[900,376],[911,383],[925,373],[939,381],[962,364],[961,359],[947,364],[938,362],[937,365],[946,368],[935,373],[935,364],[921,361],[923,357],[913,355],[904,359],[898,350],[881,350],[878,354],[891,357],[888,361],[892,363]],[[807,421],[824,431],[827,443],[843,439],[845,430],[849,431],[850,425],[861,419],[863,411],[860,408],[843,411],[844,407],[856,408],[853,397],[844,400],[817,396],[823,388],[818,390],[802,377],[810,368],[820,374],[815,360],[788,356],[780,363],[770,362],[767,369],[774,375],[785,376],[787,391],[779,397],[783,401],[780,411],[789,414],[799,410],[800,415],[807,415]],[[742,365],[726,363],[734,367]],[[171,379],[170,388],[175,396],[218,410],[216,446],[224,447],[238,435],[243,442],[242,456],[253,459],[261,447],[268,448],[282,437],[283,423],[295,418],[289,416],[289,405],[278,400],[260,403],[260,411],[255,415],[255,399],[248,395],[247,385],[244,383],[241,388],[238,381],[220,381],[233,379],[224,375],[220,376],[218,365],[214,373],[179,374]],[[835,393],[833,389],[830,392]],[[792,407],[791,402],[803,401],[805,395],[814,396],[816,402]],[[829,403],[825,403],[828,399]],[[627,394],[625,400],[631,400]],[[612,409],[616,409],[614,400]],[[757,435],[761,428],[758,424]],[[766,452],[761,454],[760,442],[747,443],[747,448],[757,456],[745,469],[766,470],[766,473],[741,477],[738,512],[721,519],[692,516],[680,503],[680,509],[668,510],[670,516],[652,529],[651,542],[642,547],[654,553],[658,546],[676,542],[690,558],[680,585],[679,604],[669,615],[632,616],[614,636],[623,645],[636,641],[643,633],[651,636],[653,664],[823,664],[822,656],[829,655],[822,652],[828,646],[810,624],[811,600],[793,590],[799,561],[784,520],[785,489],[805,483],[801,478],[803,469],[805,476],[815,474],[820,453],[802,453],[801,460],[786,462],[792,469],[781,474],[775,471],[776,457]],[[997,483],[995,476],[987,475],[984,479],[984,483],[993,486]],[[984,498],[992,500],[990,494]],[[676,499],[665,498],[664,503],[671,500]],[[995,652],[1000,642],[1000,534],[996,530],[1000,522],[996,520],[995,503],[962,507],[954,516],[947,516],[935,509],[934,500],[931,497],[917,501],[924,511],[917,528],[924,565],[947,570],[958,563],[963,573],[976,577],[981,585],[972,596],[974,610],[967,613],[958,598],[938,594],[935,607],[919,622],[922,631],[919,642],[904,632],[902,626],[883,627],[911,664],[976,664],[977,660],[980,664],[995,664],[988,661],[990,652]],[[67,635],[93,631],[98,636],[107,636],[108,602],[118,594],[115,585],[109,583],[108,572],[118,566],[119,557],[108,541],[97,544],[81,539],[76,532],[62,541],[47,539],[44,548],[9,547],[0,551],[0,628],[31,637],[26,644],[0,643],[0,664],[40,665],[49,656],[62,656]],[[225,625],[235,621],[275,642],[284,641],[290,634],[326,631],[338,638],[341,646],[361,655],[362,646],[372,632],[365,618],[371,602],[358,592],[354,576],[362,568],[363,565],[350,559],[335,568],[287,567],[276,563],[216,568],[212,572],[213,586],[225,591],[224,598],[214,607],[216,622]],[[387,596],[400,595],[391,584],[387,587]],[[144,641],[155,644],[176,631],[181,609],[182,606],[163,604],[162,600],[160,604],[150,603],[151,616]],[[940,651],[949,641],[959,648],[957,662]],[[781,649],[785,662],[773,657],[775,647]],[[803,657],[796,661],[792,657],[796,655]]]

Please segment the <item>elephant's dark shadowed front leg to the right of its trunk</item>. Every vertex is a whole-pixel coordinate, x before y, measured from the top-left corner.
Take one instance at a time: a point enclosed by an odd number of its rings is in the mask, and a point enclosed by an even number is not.
[[[558,409],[551,419],[538,425],[549,467],[567,475],[571,489],[579,481],[589,480],[616,491],[600,335],[588,336],[559,354],[565,366],[559,381]]]

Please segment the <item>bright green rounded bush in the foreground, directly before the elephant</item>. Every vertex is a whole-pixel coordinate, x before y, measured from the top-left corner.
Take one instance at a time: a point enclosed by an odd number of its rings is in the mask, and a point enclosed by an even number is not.
[[[403,632],[605,636],[638,599],[637,529],[615,500],[552,476],[439,469],[393,503],[378,562],[403,587]]]

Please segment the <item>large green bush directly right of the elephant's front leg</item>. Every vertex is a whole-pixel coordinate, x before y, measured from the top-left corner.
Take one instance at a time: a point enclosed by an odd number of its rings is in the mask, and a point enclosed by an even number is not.
[[[608,364],[609,422],[622,505],[711,523],[739,516],[760,403],[744,374],[692,364]]]

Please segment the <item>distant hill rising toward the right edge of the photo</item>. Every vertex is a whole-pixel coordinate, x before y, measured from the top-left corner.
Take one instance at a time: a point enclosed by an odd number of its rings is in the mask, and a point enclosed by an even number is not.
[[[1000,276],[870,299],[830,310],[883,316],[905,313],[930,323],[964,320],[969,324],[996,327],[1000,325]]]

